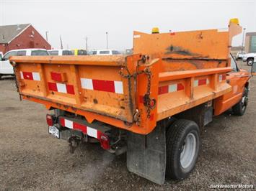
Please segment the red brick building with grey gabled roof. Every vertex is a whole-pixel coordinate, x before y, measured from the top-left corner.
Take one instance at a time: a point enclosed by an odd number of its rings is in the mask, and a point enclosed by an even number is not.
[[[31,24],[0,26],[0,52],[24,48],[45,48],[50,44]]]

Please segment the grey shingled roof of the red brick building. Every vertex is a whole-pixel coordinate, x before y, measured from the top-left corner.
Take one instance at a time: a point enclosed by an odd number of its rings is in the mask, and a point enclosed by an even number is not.
[[[9,44],[31,24],[14,24],[0,26],[0,44]]]

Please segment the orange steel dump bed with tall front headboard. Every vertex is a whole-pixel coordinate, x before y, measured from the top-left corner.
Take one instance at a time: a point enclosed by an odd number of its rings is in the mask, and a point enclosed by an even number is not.
[[[149,134],[156,121],[231,90],[227,30],[134,32],[134,55],[12,57],[22,98]]]

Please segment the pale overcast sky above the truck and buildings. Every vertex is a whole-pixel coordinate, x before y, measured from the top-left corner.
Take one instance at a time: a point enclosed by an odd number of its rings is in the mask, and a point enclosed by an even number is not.
[[[229,19],[239,18],[246,32],[256,32],[256,0],[245,1],[58,1],[0,0],[0,25],[31,23],[55,49],[105,49],[132,47],[133,30],[160,32],[227,27]],[[242,34],[233,45],[242,45]]]

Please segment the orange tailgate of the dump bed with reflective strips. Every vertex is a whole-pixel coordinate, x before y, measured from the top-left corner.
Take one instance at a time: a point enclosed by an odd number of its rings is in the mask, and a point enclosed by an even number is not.
[[[119,75],[125,57],[17,57],[16,62],[22,95],[133,121],[134,82]]]

